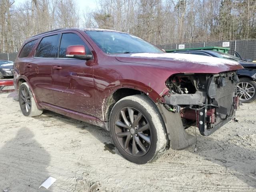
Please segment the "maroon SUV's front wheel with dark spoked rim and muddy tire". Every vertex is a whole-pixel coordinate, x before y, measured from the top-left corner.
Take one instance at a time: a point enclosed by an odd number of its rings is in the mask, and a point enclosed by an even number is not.
[[[156,104],[143,95],[127,96],[114,105],[110,134],[120,154],[136,164],[154,162],[169,142]]]

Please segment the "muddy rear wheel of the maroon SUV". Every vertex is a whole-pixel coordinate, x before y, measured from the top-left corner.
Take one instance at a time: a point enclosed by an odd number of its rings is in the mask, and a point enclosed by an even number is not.
[[[26,82],[20,85],[18,97],[24,116],[34,117],[42,114],[43,110],[37,108],[32,91]]]

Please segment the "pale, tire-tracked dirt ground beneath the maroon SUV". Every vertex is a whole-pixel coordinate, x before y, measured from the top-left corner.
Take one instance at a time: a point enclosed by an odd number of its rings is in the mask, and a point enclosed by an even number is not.
[[[240,106],[238,123],[208,137],[196,131],[196,152],[170,149],[136,165],[102,128],[50,111],[25,117],[8,94],[0,94],[0,192],[256,191],[256,102]],[[38,189],[49,176],[56,182]]]

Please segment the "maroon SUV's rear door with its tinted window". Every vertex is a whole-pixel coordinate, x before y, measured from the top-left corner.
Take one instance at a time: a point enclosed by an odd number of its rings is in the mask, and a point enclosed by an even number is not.
[[[38,102],[54,104],[52,92],[52,63],[58,54],[59,34],[44,36],[36,48],[34,58],[25,64],[26,77]]]

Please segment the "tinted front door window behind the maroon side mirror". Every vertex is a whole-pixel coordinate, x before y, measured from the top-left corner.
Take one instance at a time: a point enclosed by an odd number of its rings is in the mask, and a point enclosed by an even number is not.
[[[66,58],[66,49],[71,45],[83,45],[87,55],[92,54],[85,42],[75,33],[63,33],[60,41],[59,58]]]

